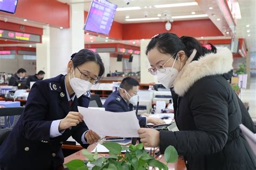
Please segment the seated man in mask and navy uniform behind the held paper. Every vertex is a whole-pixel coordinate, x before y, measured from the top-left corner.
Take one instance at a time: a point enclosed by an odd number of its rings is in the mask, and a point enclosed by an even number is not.
[[[106,111],[126,112],[132,111],[133,105],[137,104],[137,93],[139,91],[139,82],[132,78],[126,77],[122,80],[120,87],[107,97],[103,107]],[[147,123],[165,124],[162,119],[152,117],[140,117],[139,125],[144,127]]]

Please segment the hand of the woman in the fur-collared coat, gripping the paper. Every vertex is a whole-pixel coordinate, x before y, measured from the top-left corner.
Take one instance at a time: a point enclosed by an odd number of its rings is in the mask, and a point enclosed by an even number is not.
[[[146,147],[158,147],[160,144],[159,131],[149,128],[140,128],[138,130],[140,141]]]

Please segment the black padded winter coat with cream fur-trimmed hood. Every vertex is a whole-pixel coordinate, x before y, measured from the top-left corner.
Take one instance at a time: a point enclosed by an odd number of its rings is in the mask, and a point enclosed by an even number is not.
[[[223,75],[232,69],[232,53],[217,48],[191,60],[171,90],[180,131],[160,131],[160,151],[174,146],[188,170],[255,169],[255,155],[239,130],[237,96]]]

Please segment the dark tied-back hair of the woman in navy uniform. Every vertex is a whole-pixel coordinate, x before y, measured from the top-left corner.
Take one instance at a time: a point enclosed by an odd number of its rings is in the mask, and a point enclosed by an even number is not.
[[[88,61],[94,61],[96,62],[100,69],[99,69],[99,77],[103,76],[105,72],[105,67],[102,62],[102,59],[100,58],[99,54],[89,50],[89,49],[81,49],[79,52],[74,53],[71,55],[71,60],[73,61],[74,68],[80,65],[83,65],[83,63]]]

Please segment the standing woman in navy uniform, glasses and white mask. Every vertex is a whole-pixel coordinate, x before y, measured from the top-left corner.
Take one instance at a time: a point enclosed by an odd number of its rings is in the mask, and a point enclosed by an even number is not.
[[[104,74],[102,59],[82,49],[72,54],[67,70],[33,84],[21,118],[0,146],[0,169],[63,169],[61,146],[70,136],[84,148],[100,139],[78,106],[88,107],[89,90]]]

